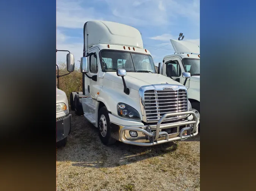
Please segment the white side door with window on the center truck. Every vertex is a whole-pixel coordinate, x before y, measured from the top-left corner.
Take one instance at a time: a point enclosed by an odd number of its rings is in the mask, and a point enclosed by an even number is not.
[[[94,99],[97,99],[98,97],[98,94],[97,92],[99,92],[100,90],[100,86],[99,86],[99,67],[101,67],[99,65],[99,51],[97,48],[94,48],[92,50],[90,50],[90,52],[88,53],[95,53],[95,54],[92,54],[90,56],[87,57],[87,62],[89,63],[88,64],[88,67],[89,67],[89,70],[88,70],[88,76],[92,77],[94,75],[97,76],[97,81],[93,80],[93,79],[89,79],[88,78],[88,94],[90,95],[90,97],[94,98]]]

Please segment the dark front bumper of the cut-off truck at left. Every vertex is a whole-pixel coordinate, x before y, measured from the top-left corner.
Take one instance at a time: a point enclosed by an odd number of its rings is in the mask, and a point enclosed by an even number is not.
[[[71,114],[56,118],[56,142],[68,137],[71,131]],[[61,119],[60,119],[61,118]]]

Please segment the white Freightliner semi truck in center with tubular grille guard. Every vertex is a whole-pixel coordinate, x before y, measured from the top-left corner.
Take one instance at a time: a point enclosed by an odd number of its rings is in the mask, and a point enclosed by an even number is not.
[[[75,95],[75,110],[99,129],[104,144],[151,146],[198,134],[187,88],[157,74],[137,29],[88,21],[83,36],[83,94]]]

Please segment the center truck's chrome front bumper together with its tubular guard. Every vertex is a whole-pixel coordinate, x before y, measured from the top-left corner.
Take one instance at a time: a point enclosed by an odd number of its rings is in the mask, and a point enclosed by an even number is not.
[[[166,117],[191,114],[193,120],[170,122],[162,124]],[[123,143],[138,146],[152,146],[175,140],[186,139],[198,134],[199,118],[193,111],[164,114],[157,125],[119,126],[119,140]],[[168,131],[166,130],[168,129]],[[131,137],[129,132],[136,131],[137,137]],[[187,132],[187,135],[184,132]]]

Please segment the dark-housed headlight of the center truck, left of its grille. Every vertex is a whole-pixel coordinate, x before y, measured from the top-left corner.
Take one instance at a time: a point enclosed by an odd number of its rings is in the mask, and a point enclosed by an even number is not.
[[[140,120],[140,114],[138,111],[125,103],[117,104],[117,113],[119,116],[127,119]]]

